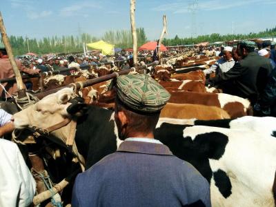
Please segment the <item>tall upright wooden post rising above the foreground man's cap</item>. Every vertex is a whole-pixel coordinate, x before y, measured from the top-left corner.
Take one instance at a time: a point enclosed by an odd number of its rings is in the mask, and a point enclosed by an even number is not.
[[[135,1],[130,0],[130,23],[132,30],[132,41],[133,41],[133,64],[137,65],[137,33],[135,26]]]

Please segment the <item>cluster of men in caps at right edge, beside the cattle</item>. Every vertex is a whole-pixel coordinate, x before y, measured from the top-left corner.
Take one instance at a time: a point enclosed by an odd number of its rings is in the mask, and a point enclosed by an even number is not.
[[[264,41],[257,49],[255,42],[241,41],[237,48],[221,49],[221,59],[204,70],[205,75],[215,72],[206,84],[249,99],[255,115],[275,116],[275,61],[275,42]]]

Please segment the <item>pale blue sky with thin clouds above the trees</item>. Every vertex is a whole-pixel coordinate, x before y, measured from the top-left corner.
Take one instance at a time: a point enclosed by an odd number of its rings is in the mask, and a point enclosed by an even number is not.
[[[197,34],[259,32],[276,26],[276,0],[198,0],[195,18],[190,0],[136,0],[136,26],[148,39],[158,39],[166,14],[168,38]],[[107,30],[130,29],[130,0],[0,0],[8,35],[47,37],[77,35],[101,37]],[[193,21],[193,19],[195,19]],[[194,29],[195,30],[195,29]]]

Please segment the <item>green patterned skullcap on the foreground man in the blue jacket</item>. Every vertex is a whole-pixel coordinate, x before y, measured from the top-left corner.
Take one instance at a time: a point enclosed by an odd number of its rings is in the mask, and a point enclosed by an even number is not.
[[[137,112],[158,112],[170,99],[170,93],[146,74],[117,78],[117,97]]]

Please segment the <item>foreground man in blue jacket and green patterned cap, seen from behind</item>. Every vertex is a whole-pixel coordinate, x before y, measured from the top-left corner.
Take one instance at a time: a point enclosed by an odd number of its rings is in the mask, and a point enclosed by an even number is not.
[[[124,141],[77,176],[72,206],[210,206],[208,181],[154,139],[170,94],[144,74],[119,76],[116,88],[115,121]]]

